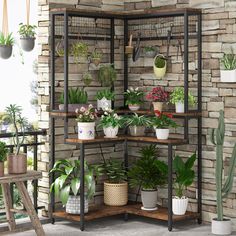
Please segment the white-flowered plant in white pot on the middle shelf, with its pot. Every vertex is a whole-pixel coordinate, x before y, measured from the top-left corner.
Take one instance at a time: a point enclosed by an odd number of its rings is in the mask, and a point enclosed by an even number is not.
[[[105,138],[116,138],[119,128],[124,125],[124,119],[115,113],[114,110],[107,109],[101,116],[99,127],[103,128]]]

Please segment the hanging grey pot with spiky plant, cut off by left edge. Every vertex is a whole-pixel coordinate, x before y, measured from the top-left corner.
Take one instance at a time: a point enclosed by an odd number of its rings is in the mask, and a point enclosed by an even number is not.
[[[6,36],[2,32],[0,33],[0,57],[2,59],[11,57],[13,44],[14,38],[12,37],[12,33]]]

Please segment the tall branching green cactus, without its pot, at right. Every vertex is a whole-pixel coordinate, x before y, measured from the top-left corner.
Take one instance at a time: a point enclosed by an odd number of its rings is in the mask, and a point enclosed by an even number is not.
[[[236,144],[230,158],[228,177],[223,184],[223,145],[225,136],[224,112],[220,111],[217,129],[212,129],[211,142],[216,145],[216,191],[217,191],[217,220],[223,220],[223,198],[231,192],[236,166]]]

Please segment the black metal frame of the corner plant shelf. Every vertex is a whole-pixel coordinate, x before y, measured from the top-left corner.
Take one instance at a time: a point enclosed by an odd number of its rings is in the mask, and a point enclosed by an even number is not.
[[[114,21],[115,19],[122,19],[124,22],[124,52],[125,52],[125,45],[128,44],[128,26],[129,26],[129,20],[137,20],[137,19],[151,19],[151,18],[158,18],[158,17],[184,17],[184,93],[185,93],[185,113],[189,112],[188,107],[188,91],[189,91],[189,81],[188,81],[188,75],[189,75],[189,67],[188,67],[188,57],[189,57],[189,39],[196,38],[197,39],[197,53],[198,53],[198,109],[194,112],[201,113],[202,112],[202,35],[201,35],[201,28],[202,28],[202,18],[201,18],[201,12],[200,11],[194,11],[192,9],[186,9],[184,11],[176,10],[176,12],[150,12],[147,14],[112,14],[112,13],[106,13],[103,14],[101,12],[75,12],[66,10],[61,12],[51,12],[51,111],[55,111],[55,16],[56,15],[64,15],[64,94],[65,94],[65,100],[64,100],[64,109],[65,112],[68,112],[68,16],[77,16],[77,17],[89,17],[89,18],[106,18],[111,20],[111,30],[110,30],[110,62],[114,63]],[[197,35],[196,37],[189,35],[189,17],[190,16],[196,16],[197,17]],[[89,39],[89,37],[87,37]],[[97,37],[96,37],[97,38]],[[173,36],[173,38],[179,38],[176,36]],[[142,38],[141,40],[159,40],[159,37],[152,37],[152,38]],[[162,38],[161,38],[162,39]],[[124,90],[126,91],[128,88],[128,56],[124,53]],[[113,87],[114,89],[114,87]],[[114,107],[114,103],[113,103]],[[186,116],[184,118],[184,139],[188,140],[188,134],[189,134],[189,128],[188,128],[188,122],[191,118],[196,118],[198,121],[198,223],[201,223],[202,217],[201,217],[201,210],[202,210],[202,118],[201,116]],[[66,116],[64,118],[65,123],[65,139],[68,138],[68,117]],[[51,117],[51,168],[55,162],[55,117]],[[85,144],[79,144],[77,147],[80,148],[80,163],[81,163],[81,194],[80,194],[80,201],[81,201],[81,215],[80,215],[80,228],[81,230],[84,230],[84,145]],[[128,150],[127,150],[127,141],[125,141],[124,145],[124,157],[125,157],[125,166],[128,168]],[[172,213],[172,157],[173,156],[173,144],[168,144],[168,230],[172,230],[173,226],[173,213]],[[50,177],[50,183],[52,183],[54,179],[54,176],[51,175]],[[54,194],[51,195],[51,219],[52,223],[54,222],[52,213],[54,212],[54,203],[55,198]],[[127,219],[127,215],[125,216]]]

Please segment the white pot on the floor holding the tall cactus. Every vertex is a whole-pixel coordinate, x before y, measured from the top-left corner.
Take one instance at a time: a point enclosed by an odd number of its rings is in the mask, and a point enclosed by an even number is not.
[[[211,232],[216,235],[231,235],[232,233],[231,220],[224,219],[223,221],[218,221],[215,218],[212,219]]]

